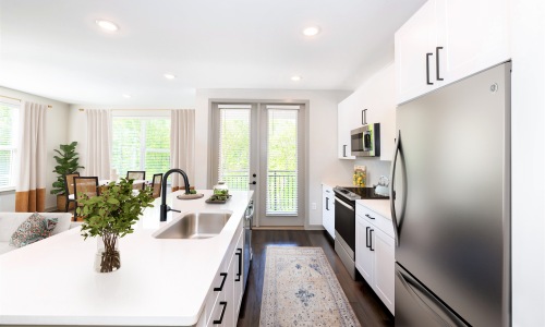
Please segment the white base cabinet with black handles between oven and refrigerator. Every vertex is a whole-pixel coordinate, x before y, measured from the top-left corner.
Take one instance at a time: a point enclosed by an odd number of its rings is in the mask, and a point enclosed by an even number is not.
[[[395,263],[391,220],[356,204],[355,267],[392,314]]]

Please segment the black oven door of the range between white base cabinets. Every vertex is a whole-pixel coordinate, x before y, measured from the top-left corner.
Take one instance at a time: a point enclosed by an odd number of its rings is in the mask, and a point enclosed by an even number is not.
[[[335,232],[355,250],[355,202],[335,196]]]

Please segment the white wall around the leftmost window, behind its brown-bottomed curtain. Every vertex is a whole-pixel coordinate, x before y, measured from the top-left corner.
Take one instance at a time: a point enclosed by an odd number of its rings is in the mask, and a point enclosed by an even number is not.
[[[46,118],[46,133],[47,133],[46,209],[57,208],[56,195],[49,194],[49,192],[51,191],[51,184],[57,180],[56,173],[52,172],[56,166],[56,161],[53,158],[53,155],[56,153],[53,152],[53,149],[59,148],[60,144],[65,144],[69,142],[68,141],[69,105],[5,87],[0,87],[0,95],[52,106],[52,108],[47,110],[46,114],[47,117]],[[0,211],[15,210],[14,194],[15,192],[0,193]]]

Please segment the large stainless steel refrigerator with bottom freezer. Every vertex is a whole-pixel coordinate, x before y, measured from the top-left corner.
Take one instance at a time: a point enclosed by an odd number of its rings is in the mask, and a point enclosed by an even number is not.
[[[396,326],[510,326],[510,62],[397,109]]]

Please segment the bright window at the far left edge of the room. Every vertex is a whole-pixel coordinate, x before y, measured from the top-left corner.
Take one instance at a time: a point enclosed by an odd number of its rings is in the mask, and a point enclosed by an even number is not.
[[[0,101],[0,191],[15,189],[19,102]]]

